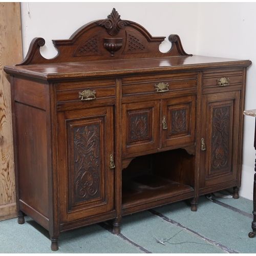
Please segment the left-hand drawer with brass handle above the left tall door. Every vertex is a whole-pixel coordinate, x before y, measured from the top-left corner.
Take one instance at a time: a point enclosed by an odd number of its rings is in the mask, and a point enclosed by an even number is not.
[[[58,90],[60,89],[61,90]],[[115,83],[81,83],[66,84],[57,87],[57,101],[91,101],[97,99],[114,98],[116,93]]]

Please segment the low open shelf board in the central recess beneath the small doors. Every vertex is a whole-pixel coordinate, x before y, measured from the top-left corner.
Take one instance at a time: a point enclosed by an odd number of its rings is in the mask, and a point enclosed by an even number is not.
[[[123,214],[194,197],[194,189],[156,175],[143,175],[122,180]],[[134,210],[127,208],[134,207]]]

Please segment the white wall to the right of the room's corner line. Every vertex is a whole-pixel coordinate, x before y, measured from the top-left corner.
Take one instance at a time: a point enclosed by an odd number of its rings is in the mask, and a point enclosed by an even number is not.
[[[250,59],[245,110],[256,109],[256,3],[199,3],[197,54]],[[255,118],[245,116],[240,195],[252,200]]]

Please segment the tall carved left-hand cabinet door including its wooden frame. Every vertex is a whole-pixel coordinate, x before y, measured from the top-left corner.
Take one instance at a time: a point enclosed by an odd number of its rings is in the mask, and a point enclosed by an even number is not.
[[[58,113],[61,222],[114,207],[113,107]]]

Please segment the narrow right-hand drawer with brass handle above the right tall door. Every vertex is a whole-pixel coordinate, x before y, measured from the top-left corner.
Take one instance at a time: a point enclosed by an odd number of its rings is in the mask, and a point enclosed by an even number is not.
[[[241,86],[243,83],[242,71],[203,73],[203,87]]]

